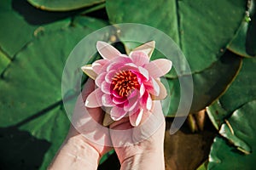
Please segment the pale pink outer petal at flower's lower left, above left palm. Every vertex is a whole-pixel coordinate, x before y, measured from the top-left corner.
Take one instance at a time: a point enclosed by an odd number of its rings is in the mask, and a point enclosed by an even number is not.
[[[96,88],[85,101],[85,106],[89,108],[96,108],[102,106],[102,90],[100,88]]]

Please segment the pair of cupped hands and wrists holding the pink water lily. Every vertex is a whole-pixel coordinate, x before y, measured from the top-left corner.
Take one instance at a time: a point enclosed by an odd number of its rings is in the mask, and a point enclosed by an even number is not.
[[[49,169],[96,169],[100,157],[112,149],[111,144],[122,169],[164,169],[165,118],[160,101],[154,101],[153,110],[143,114],[140,126],[132,127],[129,117],[125,117],[113,122],[109,132],[107,127],[102,127],[102,109],[84,106],[93,89],[92,80],[85,83],[73,112],[76,128],[70,128]]]

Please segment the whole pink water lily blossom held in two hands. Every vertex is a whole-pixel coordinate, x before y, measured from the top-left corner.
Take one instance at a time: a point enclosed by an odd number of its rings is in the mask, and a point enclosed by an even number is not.
[[[129,116],[131,125],[137,127],[143,113],[152,109],[152,100],[166,98],[160,77],[171,70],[172,61],[150,61],[154,41],[135,48],[129,55],[121,54],[107,42],[97,42],[96,48],[103,59],[81,67],[96,82],[85,106],[108,108],[113,121]]]

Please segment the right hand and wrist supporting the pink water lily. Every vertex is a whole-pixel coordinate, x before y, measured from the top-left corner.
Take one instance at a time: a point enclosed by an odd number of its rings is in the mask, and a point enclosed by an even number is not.
[[[110,125],[110,135],[121,169],[165,169],[165,127],[160,101],[154,101],[152,111],[143,114],[142,123],[137,128],[131,126],[128,117],[113,122]]]

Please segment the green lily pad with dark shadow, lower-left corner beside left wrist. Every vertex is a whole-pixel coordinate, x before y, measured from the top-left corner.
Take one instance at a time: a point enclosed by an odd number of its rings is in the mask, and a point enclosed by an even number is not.
[[[40,112],[12,127],[0,128],[3,169],[46,169],[69,128],[61,105]],[[40,168],[39,168],[40,167]]]

